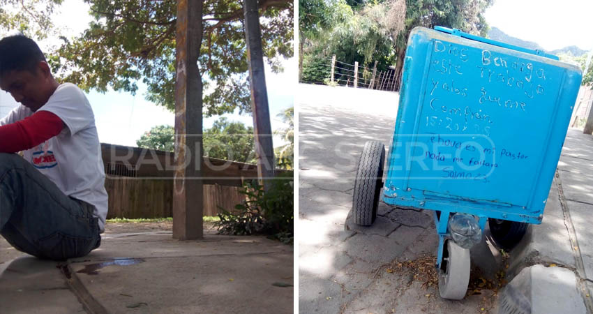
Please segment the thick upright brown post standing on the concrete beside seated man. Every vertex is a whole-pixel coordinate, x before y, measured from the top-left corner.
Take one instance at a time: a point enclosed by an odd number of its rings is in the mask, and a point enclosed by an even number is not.
[[[202,186],[202,0],[177,0],[173,238],[204,237]],[[194,155],[195,154],[195,155]]]

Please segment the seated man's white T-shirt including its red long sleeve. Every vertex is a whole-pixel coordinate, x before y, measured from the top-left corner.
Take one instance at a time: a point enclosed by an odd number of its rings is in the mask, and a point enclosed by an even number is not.
[[[32,112],[19,105],[0,120],[0,152],[23,151],[24,158],[66,195],[95,207],[105,230],[107,191],[95,116],[87,96],[64,83]]]

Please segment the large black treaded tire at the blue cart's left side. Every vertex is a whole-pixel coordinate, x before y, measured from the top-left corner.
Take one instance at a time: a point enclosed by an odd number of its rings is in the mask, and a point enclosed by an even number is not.
[[[373,225],[377,218],[384,162],[385,145],[377,141],[366,142],[356,167],[352,195],[352,220],[356,225]]]

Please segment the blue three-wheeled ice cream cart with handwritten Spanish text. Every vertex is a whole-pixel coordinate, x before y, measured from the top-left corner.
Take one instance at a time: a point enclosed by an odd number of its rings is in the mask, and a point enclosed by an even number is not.
[[[581,79],[580,68],[539,50],[412,30],[389,154],[365,144],[354,223],[371,225],[380,199],[433,210],[440,295],[463,299],[470,248],[487,222],[503,247],[541,223]]]

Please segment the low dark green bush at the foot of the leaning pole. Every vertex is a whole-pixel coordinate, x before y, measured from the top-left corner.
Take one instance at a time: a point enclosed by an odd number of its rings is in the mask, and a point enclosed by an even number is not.
[[[241,193],[247,200],[234,211],[223,210],[215,223],[220,234],[270,234],[292,244],[294,237],[293,173],[281,174],[271,181],[267,192],[257,183],[246,183]]]

